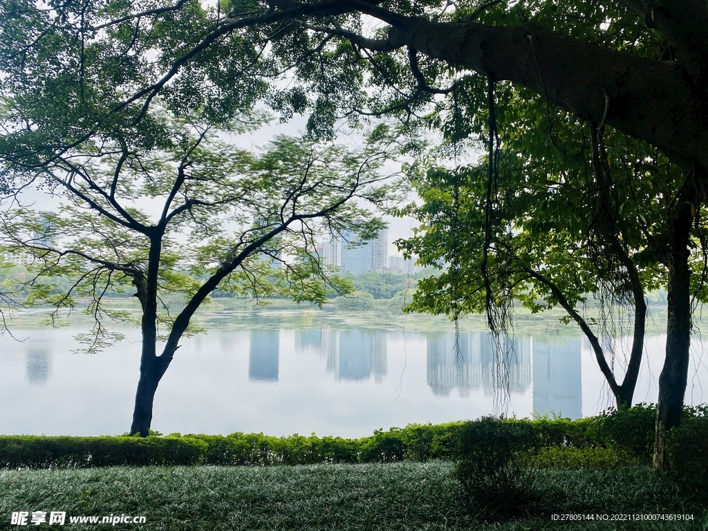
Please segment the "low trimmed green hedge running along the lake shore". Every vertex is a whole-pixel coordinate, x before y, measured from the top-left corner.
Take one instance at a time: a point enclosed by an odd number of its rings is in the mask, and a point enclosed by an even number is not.
[[[687,423],[671,432],[670,448],[696,447],[704,452],[708,438],[708,406],[686,409]],[[490,419],[438,425],[411,425],[406,428],[376,430],[370,437],[346,439],[290,435],[272,437],[263,433],[231,435],[180,435],[165,437],[40,437],[0,435],[0,468],[108,467],[116,465],[271,465],[392,462],[401,460],[469,458],[469,451],[484,452],[470,438],[480,438],[479,430],[493,424],[493,437],[483,442],[494,452],[498,440],[515,440],[513,451],[537,454],[542,448],[573,448],[576,452],[542,452],[547,461],[563,466],[609,459],[610,454],[586,448],[607,448],[622,455],[622,462],[649,462],[653,448],[653,423],[656,409],[640,404],[628,411],[607,411],[595,417],[569,419],[541,418]],[[484,430],[483,430],[484,431]],[[474,435],[477,433],[477,435]],[[465,435],[467,434],[467,435]],[[483,438],[483,437],[482,437]],[[497,442],[495,442],[497,441]],[[703,449],[703,450],[702,450]],[[554,453],[555,452],[555,453]],[[554,456],[551,458],[551,456]],[[561,459],[561,455],[565,456]],[[701,454],[703,455],[703,454]],[[583,456],[581,458],[581,456]],[[670,455],[671,457],[671,455]],[[614,459],[614,457],[612,458]],[[602,460],[602,459],[600,459]],[[708,459],[705,461],[708,462]],[[550,466],[550,464],[549,464]],[[580,465],[582,466],[582,465]]]

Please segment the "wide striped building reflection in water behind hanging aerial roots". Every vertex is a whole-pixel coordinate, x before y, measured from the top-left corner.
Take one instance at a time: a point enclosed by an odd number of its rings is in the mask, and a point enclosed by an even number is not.
[[[508,348],[508,366],[497,366],[491,336],[488,333],[429,334],[427,341],[427,381],[433,394],[450,396],[457,389],[460,396],[469,396],[473,389],[494,394],[508,384],[512,393],[523,393],[531,384],[530,343],[527,339],[512,340]],[[501,372],[498,372],[501,370]]]

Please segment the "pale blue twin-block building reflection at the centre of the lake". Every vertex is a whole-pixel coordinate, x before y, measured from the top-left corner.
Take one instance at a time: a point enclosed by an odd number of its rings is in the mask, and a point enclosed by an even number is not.
[[[375,382],[381,382],[387,373],[384,331],[326,329],[322,345],[326,348],[327,371],[337,379],[369,379],[373,373]]]

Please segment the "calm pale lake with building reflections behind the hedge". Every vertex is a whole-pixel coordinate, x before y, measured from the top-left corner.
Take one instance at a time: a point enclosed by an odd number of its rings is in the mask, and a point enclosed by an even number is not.
[[[493,413],[578,418],[613,401],[576,326],[522,327],[513,338],[508,393],[495,385],[481,321],[459,332],[445,319],[370,312],[348,319],[316,309],[206,312],[208,330],[182,341],[154,404],[161,433],[263,432],[360,437],[409,423]],[[349,324],[353,322],[354,324]],[[540,322],[540,321],[534,321]],[[554,320],[557,323],[557,319]],[[0,433],[115,435],[130,428],[139,331],[88,355],[74,336],[86,324],[13,329],[0,338]],[[666,336],[646,337],[635,402],[656,401]],[[622,364],[629,338],[614,345]],[[692,339],[686,401],[705,401],[700,336]]]

